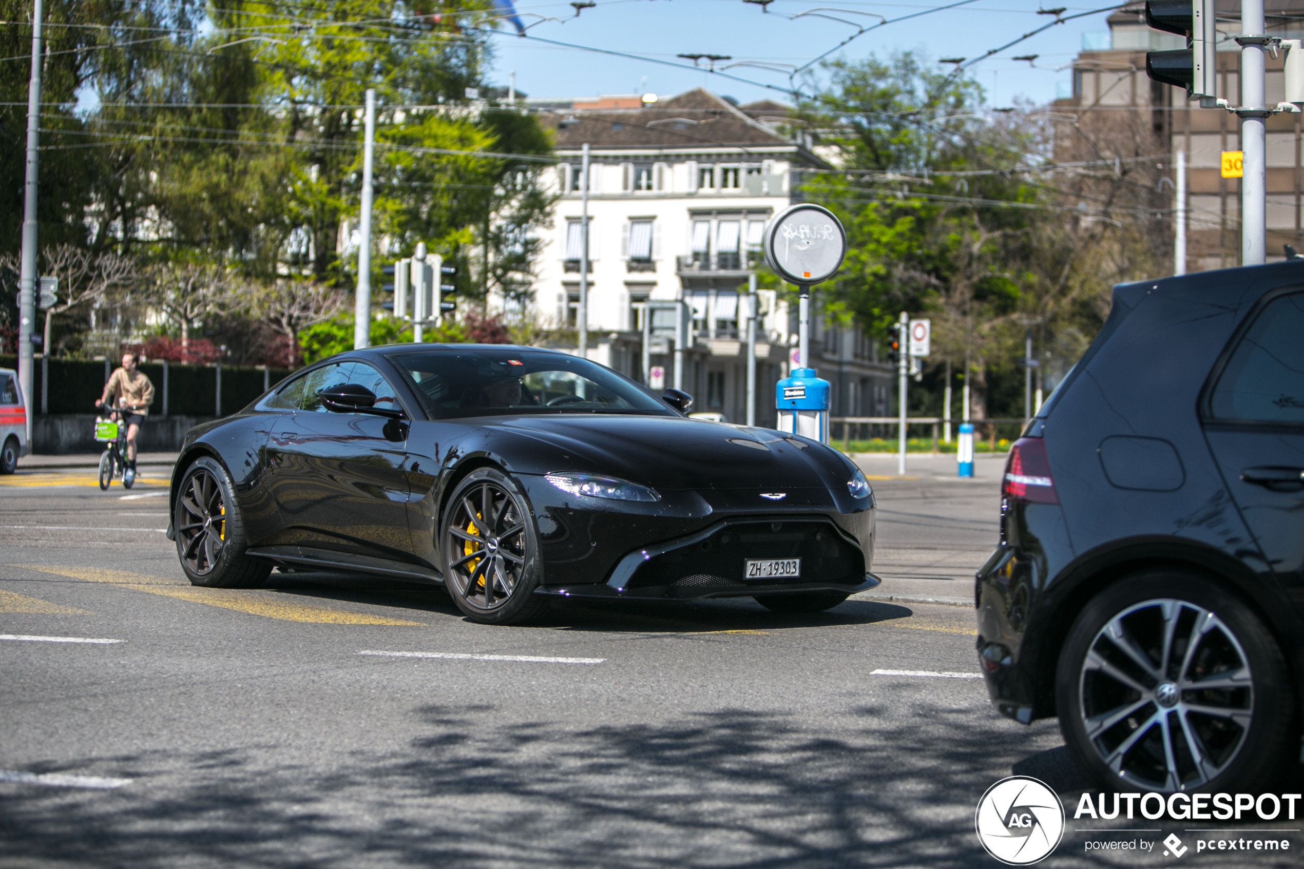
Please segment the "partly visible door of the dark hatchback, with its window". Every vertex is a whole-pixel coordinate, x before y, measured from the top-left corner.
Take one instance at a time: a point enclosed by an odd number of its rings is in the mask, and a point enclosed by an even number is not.
[[[1205,436],[1232,499],[1304,615],[1304,292],[1248,318],[1205,399]]]

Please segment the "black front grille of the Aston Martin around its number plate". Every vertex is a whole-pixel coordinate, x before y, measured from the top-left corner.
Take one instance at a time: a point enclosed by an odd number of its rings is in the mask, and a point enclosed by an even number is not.
[[[801,576],[745,578],[748,559],[801,559]],[[738,591],[750,585],[858,585],[865,556],[827,520],[730,522],[711,537],[645,560],[626,588],[665,586],[669,597]]]

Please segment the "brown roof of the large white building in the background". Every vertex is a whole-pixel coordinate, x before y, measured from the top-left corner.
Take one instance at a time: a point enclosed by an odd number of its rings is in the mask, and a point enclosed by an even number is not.
[[[575,103],[570,112],[544,115],[544,126],[557,132],[557,149],[569,151],[585,142],[597,149],[716,149],[793,146],[773,121],[792,109],[763,100],[737,107],[703,89],[639,108],[595,108]]]

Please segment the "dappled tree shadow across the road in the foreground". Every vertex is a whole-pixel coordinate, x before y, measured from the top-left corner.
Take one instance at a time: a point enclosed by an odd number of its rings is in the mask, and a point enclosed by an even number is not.
[[[411,711],[406,749],[330,765],[265,744],[69,765],[137,776],[108,793],[5,786],[0,865],[990,866],[974,805],[1038,730],[936,701],[837,731],[742,709],[625,727]]]

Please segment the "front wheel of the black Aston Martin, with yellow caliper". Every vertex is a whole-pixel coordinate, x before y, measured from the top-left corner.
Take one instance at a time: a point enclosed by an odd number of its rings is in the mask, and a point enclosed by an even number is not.
[[[526,624],[548,610],[539,532],[524,491],[494,468],[477,468],[449,498],[439,520],[443,588],[469,619]]]

